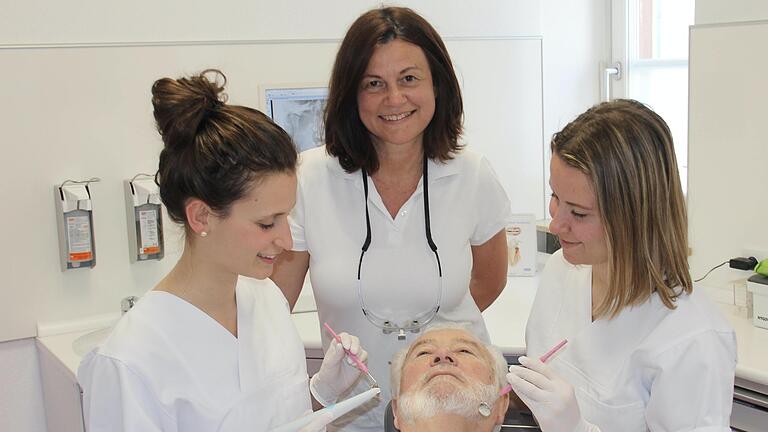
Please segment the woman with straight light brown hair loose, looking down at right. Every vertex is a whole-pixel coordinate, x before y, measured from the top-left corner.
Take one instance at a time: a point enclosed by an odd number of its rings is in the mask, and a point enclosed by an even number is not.
[[[597,105],[552,138],[550,173],[563,247],[507,375],[541,430],[730,431],[736,339],[688,273],[667,124],[637,101]]]

